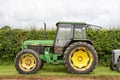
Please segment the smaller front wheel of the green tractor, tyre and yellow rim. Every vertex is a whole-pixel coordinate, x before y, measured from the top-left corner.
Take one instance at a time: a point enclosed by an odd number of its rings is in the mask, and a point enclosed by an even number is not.
[[[38,53],[31,49],[20,51],[15,58],[15,68],[20,74],[36,73],[41,66]]]

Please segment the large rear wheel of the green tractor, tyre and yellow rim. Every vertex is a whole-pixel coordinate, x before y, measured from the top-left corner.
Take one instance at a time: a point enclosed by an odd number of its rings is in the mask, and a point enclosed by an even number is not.
[[[71,44],[64,53],[64,64],[71,73],[90,73],[97,62],[97,52],[92,45],[85,42]]]

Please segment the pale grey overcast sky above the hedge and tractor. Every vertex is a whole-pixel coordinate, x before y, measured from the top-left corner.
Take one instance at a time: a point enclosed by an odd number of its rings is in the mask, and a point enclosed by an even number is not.
[[[54,28],[58,21],[120,26],[120,0],[0,0],[0,27]]]

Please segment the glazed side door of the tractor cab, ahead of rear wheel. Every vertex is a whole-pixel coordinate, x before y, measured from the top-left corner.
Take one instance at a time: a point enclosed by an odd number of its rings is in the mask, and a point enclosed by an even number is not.
[[[59,24],[57,26],[57,34],[55,39],[54,50],[55,53],[63,53],[63,48],[73,38],[73,27],[72,24]]]

